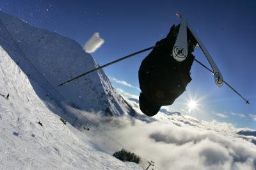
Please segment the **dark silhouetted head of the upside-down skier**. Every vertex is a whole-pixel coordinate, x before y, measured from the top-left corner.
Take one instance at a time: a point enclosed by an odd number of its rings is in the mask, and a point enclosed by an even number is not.
[[[140,110],[147,116],[154,116],[157,114],[157,112],[160,110],[161,106],[156,105],[143,95],[143,93],[140,93]]]

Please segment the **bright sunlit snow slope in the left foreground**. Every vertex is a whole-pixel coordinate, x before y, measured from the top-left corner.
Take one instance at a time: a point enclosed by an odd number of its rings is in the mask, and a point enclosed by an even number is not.
[[[93,149],[85,134],[63,125],[45,105],[49,99],[44,89],[2,47],[0,79],[0,169],[141,169]],[[9,100],[2,96],[7,93]]]

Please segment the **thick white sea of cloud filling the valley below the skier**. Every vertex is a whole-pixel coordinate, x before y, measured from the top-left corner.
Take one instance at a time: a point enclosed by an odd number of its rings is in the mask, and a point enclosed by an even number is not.
[[[155,169],[255,169],[256,146],[237,135],[230,123],[200,121],[191,116],[159,113],[154,121],[131,116],[90,119],[119,144],[93,132],[93,143],[113,153],[122,147],[140,155],[142,165],[153,160]],[[102,143],[102,141],[104,141]],[[119,146],[118,146],[119,145]]]

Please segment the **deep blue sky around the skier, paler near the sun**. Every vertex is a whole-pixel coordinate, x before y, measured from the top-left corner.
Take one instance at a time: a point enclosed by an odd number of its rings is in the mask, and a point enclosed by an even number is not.
[[[256,3],[255,1],[0,1],[0,8],[31,25],[56,31],[81,45],[95,32],[105,43],[92,56],[100,65],[154,45],[178,24],[175,12],[182,13],[196,31],[229,82],[251,105],[246,105],[227,86],[218,88],[214,78],[197,63],[193,81],[172,105],[173,111],[188,110],[189,97],[200,99],[189,114],[203,120],[234,123],[256,128]],[[109,77],[138,84],[138,68],[147,52],[105,68]],[[197,49],[196,58],[207,66]],[[113,81],[116,88],[139,95],[140,91]],[[243,115],[243,116],[242,116]],[[253,117],[255,116],[255,117]],[[253,120],[255,118],[255,120]]]

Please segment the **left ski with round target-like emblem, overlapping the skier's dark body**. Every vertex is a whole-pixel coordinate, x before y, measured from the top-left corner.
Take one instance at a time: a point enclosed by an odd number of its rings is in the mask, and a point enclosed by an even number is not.
[[[172,49],[172,56],[176,61],[184,61],[188,56],[187,21],[185,17],[179,16],[180,28],[177,40]]]

